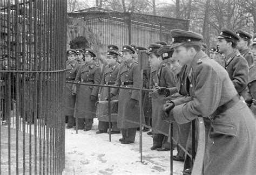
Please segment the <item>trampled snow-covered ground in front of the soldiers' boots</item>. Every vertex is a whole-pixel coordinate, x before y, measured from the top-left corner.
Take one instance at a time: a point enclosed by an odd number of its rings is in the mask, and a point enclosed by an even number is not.
[[[63,174],[170,174],[170,151],[151,151],[152,137],[143,132],[143,163],[140,162],[139,131],[132,144],[121,144],[121,134],[96,134],[98,120],[92,130],[66,129],[65,170]],[[173,151],[176,155],[177,151]],[[173,173],[182,174],[183,162],[173,161]]]

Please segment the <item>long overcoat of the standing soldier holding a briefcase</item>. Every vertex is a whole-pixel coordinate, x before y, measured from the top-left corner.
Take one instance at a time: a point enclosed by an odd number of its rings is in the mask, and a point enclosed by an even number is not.
[[[114,83],[117,80],[117,74],[119,72],[120,65],[118,62],[113,64],[112,66],[106,65],[103,72],[102,81],[100,82],[100,85],[110,85],[114,86]],[[112,88],[110,88],[111,92]],[[100,87],[99,88],[99,94],[100,94],[100,101],[105,101],[105,98],[109,96],[109,89],[107,87]],[[111,100],[118,100],[118,95],[113,96]],[[109,116],[98,116],[99,121],[109,121]],[[111,114],[111,122],[117,122],[117,115]]]

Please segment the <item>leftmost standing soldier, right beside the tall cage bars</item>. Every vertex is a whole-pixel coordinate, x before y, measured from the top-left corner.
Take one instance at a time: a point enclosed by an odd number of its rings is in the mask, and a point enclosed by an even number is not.
[[[73,49],[66,51],[68,60],[66,61],[66,81],[74,82],[80,63],[76,61],[77,52]],[[68,125],[66,128],[73,128],[75,125],[74,108],[76,103],[76,92],[72,92],[72,83],[66,83],[65,86],[65,115],[68,116]]]

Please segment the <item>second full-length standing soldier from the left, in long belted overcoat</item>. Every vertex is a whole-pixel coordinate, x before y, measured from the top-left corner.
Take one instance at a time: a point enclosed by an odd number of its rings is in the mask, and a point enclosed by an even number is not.
[[[86,48],[85,62],[80,65],[75,82],[99,85],[101,81],[100,67],[93,61],[95,51]],[[74,117],[78,118],[78,129],[89,131],[92,128],[93,118],[96,116],[95,103],[98,101],[97,86],[78,85]]]

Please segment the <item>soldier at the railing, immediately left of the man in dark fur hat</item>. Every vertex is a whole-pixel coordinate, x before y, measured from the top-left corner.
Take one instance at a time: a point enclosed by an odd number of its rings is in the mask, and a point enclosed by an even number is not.
[[[151,66],[150,76],[150,89],[153,90],[150,93],[152,97],[152,127],[169,134],[169,123],[161,121],[160,109],[165,103],[165,97],[159,96],[157,92],[158,87],[175,87],[174,74],[167,66],[167,62],[172,57],[172,51],[167,52],[164,55],[157,53],[161,47],[160,44],[153,43],[149,46],[149,63]],[[170,46],[162,46],[161,48],[170,48]],[[168,151],[170,150],[170,144],[168,143],[168,137],[159,134],[157,131],[153,131],[153,146],[151,150]]]

